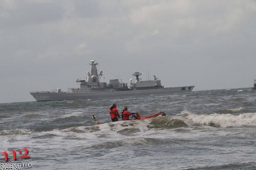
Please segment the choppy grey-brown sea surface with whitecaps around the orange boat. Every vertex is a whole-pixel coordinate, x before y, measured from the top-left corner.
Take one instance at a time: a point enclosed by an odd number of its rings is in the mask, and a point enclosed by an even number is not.
[[[127,106],[141,117],[166,116],[110,122],[113,103],[119,113]],[[28,169],[256,169],[256,90],[249,88],[0,103],[0,124],[0,152],[8,155],[0,163]],[[22,148],[29,158],[19,158]]]

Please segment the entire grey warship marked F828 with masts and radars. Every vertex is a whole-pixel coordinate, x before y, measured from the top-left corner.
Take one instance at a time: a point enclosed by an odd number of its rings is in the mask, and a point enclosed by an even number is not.
[[[158,95],[158,94],[172,94],[191,92],[195,86],[182,87],[168,87],[164,88],[161,85],[161,80],[157,80],[154,75],[154,80],[141,81],[139,78],[142,75],[135,72],[132,75],[136,77],[133,82],[130,79],[130,86],[128,83],[120,83],[118,79],[109,80],[107,82],[100,82],[103,75],[102,71],[98,74],[95,60],[90,61],[91,73],[87,72],[87,81],[77,79],[76,88],[68,88],[67,92],[56,89],[46,92],[29,92],[38,102],[53,101],[53,100],[75,100],[75,99],[93,99],[103,97],[125,97],[125,96],[139,96],[139,95]]]

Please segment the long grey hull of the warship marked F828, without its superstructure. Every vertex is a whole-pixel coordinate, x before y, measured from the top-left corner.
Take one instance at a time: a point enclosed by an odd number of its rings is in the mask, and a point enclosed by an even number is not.
[[[147,90],[128,90],[128,91],[108,91],[108,92],[30,92],[30,94],[38,102],[53,101],[53,100],[75,100],[75,99],[93,99],[105,97],[125,97],[125,96],[140,96],[140,95],[159,95],[172,93],[191,92],[195,86],[170,87],[163,89],[147,89]],[[182,89],[186,90],[182,90]],[[188,90],[188,88],[190,88]]]

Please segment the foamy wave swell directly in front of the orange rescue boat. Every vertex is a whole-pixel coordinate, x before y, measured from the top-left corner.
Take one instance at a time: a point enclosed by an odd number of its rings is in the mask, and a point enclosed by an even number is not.
[[[185,119],[186,120],[186,119]],[[152,119],[132,120],[132,121],[118,121],[110,122],[92,126],[80,126],[62,131],[71,131],[77,137],[84,137],[86,135],[96,135],[98,138],[116,138],[118,136],[136,136],[136,135],[149,135],[160,134],[163,130],[177,129],[189,127],[180,117],[164,116],[155,117]],[[114,137],[115,136],[115,137]]]

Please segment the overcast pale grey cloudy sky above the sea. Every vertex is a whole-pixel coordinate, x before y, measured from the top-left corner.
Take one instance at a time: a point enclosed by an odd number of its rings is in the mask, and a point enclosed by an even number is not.
[[[253,87],[255,39],[254,0],[1,0],[0,103],[76,87],[90,60],[107,83]]]

